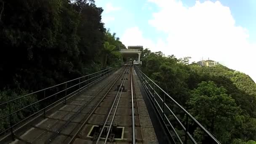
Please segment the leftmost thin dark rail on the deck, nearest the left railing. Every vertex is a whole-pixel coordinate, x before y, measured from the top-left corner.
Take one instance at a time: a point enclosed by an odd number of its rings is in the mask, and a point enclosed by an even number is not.
[[[122,71],[122,70],[121,70],[121,71]],[[116,77],[117,77],[117,76],[116,76]],[[114,77],[114,79],[115,79],[116,77]],[[118,78],[117,78],[117,80],[118,80]],[[83,109],[85,109],[85,107],[87,107],[88,104],[90,104],[91,101],[93,101],[93,99],[95,99],[96,96],[98,96],[98,94],[101,93],[101,91],[103,91],[104,88],[106,88],[106,87],[109,85],[109,83],[111,83],[111,82],[112,82],[112,81],[109,81],[106,85],[104,85],[103,88],[101,88],[100,91],[98,91],[95,95],[93,95],[93,97],[92,97],[89,101],[87,101],[77,112],[75,112],[75,114],[72,115],[72,116],[66,121],[66,123],[64,123],[64,125],[61,126],[61,128],[59,128],[55,133],[53,133],[53,135],[50,136],[50,138],[48,139],[48,142],[46,142],[45,144],[51,143],[51,142],[60,134],[60,132],[61,132],[64,128],[66,128],[67,125],[68,125],[75,117],[77,117],[77,115],[79,115],[79,114],[83,111]],[[83,83],[83,82],[81,82],[81,83]],[[83,121],[83,119],[82,119],[81,121]],[[81,123],[81,121],[80,121],[80,123]],[[70,132],[70,134],[71,134],[74,130],[75,130],[75,128]]]

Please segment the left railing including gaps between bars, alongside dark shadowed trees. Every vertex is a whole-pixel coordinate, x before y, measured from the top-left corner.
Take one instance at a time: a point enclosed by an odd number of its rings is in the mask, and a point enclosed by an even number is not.
[[[9,101],[1,103],[0,111],[7,111],[8,114],[0,114],[0,126],[5,125],[4,130],[0,129],[0,136],[4,134],[7,134],[8,136],[8,134],[10,135],[11,133],[12,139],[14,139],[14,128],[16,128],[19,124],[25,123],[26,120],[32,119],[37,114],[44,115],[45,117],[48,109],[50,109],[54,104],[57,104],[61,101],[63,101],[64,104],[67,104],[67,99],[71,98],[80,91],[83,91],[89,86],[97,83],[104,77],[107,77],[112,73],[112,71],[112,68],[104,69],[99,72],[92,73],[90,75],[78,77],[74,80],[69,80],[67,82],[51,86],[40,91],[35,91],[24,96],[19,96],[18,98],[11,99]],[[20,103],[22,99],[29,99],[31,97],[34,97],[36,101],[32,101],[29,104],[25,104],[24,107],[16,107],[16,104]],[[35,107],[38,107],[37,110],[35,112],[31,112],[30,114],[28,114],[28,109],[35,109]],[[17,117],[18,114],[25,115],[25,117],[16,120],[16,122],[14,123],[13,117]]]

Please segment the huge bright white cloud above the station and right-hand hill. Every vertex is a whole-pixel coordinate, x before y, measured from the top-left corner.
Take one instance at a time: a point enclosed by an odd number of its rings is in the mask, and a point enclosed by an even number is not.
[[[248,30],[235,25],[229,7],[215,3],[196,1],[187,7],[176,0],[149,0],[160,10],[153,13],[149,24],[168,35],[164,40],[143,38],[139,28],[124,34],[126,45],[148,45],[152,51],[163,51],[176,57],[191,56],[192,61],[202,57],[219,61],[225,66],[245,72],[256,81],[256,45],[248,41]],[[141,43],[140,43],[141,42]],[[130,44],[131,43],[131,44]]]

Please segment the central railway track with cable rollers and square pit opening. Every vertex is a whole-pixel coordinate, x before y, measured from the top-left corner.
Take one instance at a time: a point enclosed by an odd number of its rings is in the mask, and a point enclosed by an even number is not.
[[[91,117],[85,120],[68,144],[85,141],[93,141],[95,144],[106,144],[107,141],[126,141],[135,144],[136,128],[131,67],[126,67],[122,77],[116,87],[112,85],[110,91],[99,101],[91,112]],[[124,117],[122,117],[122,113],[126,116],[123,115]],[[91,122],[89,119],[95,121]],[[128,131],[125,127],[128,128]],[[124,136],[125,132],[129,133],[130,136]]]

